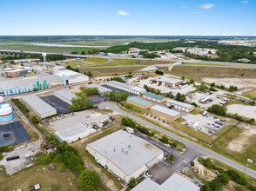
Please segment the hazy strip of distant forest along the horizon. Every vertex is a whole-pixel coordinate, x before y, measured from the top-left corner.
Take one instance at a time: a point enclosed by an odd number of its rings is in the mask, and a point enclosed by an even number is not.
[[[100,39],[179,39],[179,40],[250,40],[255,36],[0,36],[0,43],[54,43],[54,42],[80,42],[97,41]]]

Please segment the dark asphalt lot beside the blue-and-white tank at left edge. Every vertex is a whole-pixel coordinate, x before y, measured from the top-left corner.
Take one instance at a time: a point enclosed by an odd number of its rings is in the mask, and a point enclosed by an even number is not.
[[[3,138],[3,134],[8,133],[10,137]],[[0,126],[0,147],[28,141],[30,141],[30,135],[21,122],[10,122]]]

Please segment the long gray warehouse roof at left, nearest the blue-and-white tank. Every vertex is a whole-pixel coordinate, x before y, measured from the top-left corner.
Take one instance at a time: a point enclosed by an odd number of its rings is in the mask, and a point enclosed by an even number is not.
[[[22,100],[30,105],[31,108],[35,109],[40,115],[49,113],[51,111],[56,111],[56,109],[51,107],[51,105],[49,105],[47,102],[44,102],[44,100],[37,97],[37,95],[27,95],[22,97]]]

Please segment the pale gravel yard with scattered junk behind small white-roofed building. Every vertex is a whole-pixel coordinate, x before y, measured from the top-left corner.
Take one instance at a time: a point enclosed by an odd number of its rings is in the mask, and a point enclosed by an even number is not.
[[[59,118],[57,122],[51,122],[51,128],[55,131],[71,127],[78,123],[82,123],[85,125],[91,125],[91,122],[99,123],[108,120],[110,115],[102,114],[95,110],[84,110],[75,112],[74,115],[68,114],[64,119]]]

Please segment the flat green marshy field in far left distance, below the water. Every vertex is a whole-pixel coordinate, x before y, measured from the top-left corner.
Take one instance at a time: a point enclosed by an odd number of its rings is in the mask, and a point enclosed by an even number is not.
[[[77,51],[87,52],[91,48],[84,47],[47,47],[47,46],[37,46],[31,44],[0,44],[0,49],[10,49],[10,50],[23,50],[23,51],[38,51],[38,52],[56,52],[56,53],[71,53]]]

